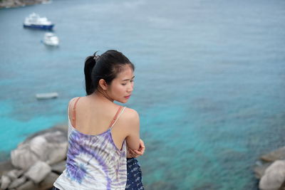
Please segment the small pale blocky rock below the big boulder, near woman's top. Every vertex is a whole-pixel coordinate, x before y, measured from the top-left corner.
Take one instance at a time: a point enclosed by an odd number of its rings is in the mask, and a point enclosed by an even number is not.
[[[24,174],[28,179],[38,184],[41,182],[49,173],[51,172],[51,167],[46,164],[46,162],[38,161],[28,171]]]

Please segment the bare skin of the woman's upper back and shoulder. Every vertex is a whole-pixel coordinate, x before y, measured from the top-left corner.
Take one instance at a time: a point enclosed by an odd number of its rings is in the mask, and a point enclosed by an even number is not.
[[[74,106],[76,107],[75,113]],[[108,130],[119,107],[119,105],[113,102],[96,100],[93,95],[80,97],[78,102],[74,98],[71,100],[71,109],[68,112],[68,118],[79,132],[83,134],[100,134]],[[112,129],[112,137],[118,149],[121,149],[123,141],[128,134],[127,125],[129,125],[132,119],[130,117],[134,115],[134,111],[125,107],[125,114],[120,115],[120,120],[115,122],[115,127]],[[72,119],[73,117],[76,117],[76,121]]]

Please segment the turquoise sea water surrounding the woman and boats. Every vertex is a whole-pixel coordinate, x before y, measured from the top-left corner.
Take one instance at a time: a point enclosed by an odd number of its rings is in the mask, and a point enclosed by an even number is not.
[[[67,124],[83,62],[118,49],[135,63],[145,189],[257,189],[252,165],[285,144],[285,1],[63,1],[0,10],[1,159]],[[22,27],[56,22],[58,48]],[[58,92],[38,101],[36,93]]]

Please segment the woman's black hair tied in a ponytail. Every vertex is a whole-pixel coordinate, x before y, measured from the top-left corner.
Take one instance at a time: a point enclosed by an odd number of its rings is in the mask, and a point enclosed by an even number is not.
[[[135,70],[135,65],[120,51],[108,50],[101,56],[88,56],[85,60],[84,74],[86,83],[86,95],[92,94],[98,87],[99,80],[103,78],[110,85],[118,73],[125,69],[125,65]]]

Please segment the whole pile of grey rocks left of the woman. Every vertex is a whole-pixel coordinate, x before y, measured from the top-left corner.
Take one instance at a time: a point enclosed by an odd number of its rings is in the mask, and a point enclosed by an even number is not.
[[[55,126],[21,142],[0,163],[0,189],[51,189],[66,168],[67,135],[67,126]]]

